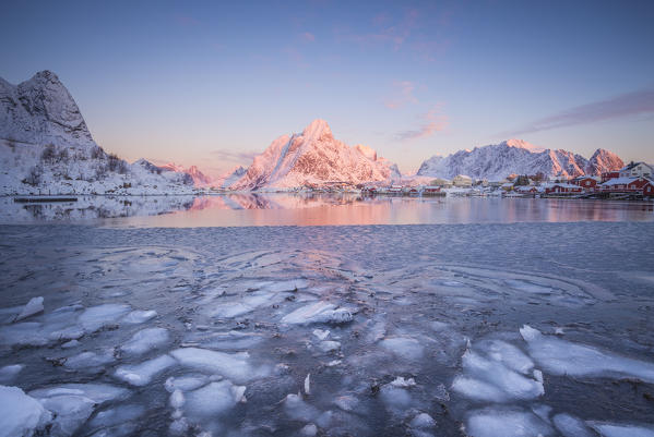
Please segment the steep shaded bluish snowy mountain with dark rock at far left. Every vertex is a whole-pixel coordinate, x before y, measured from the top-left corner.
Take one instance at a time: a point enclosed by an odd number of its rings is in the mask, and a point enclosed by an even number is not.
[[[107,154],[49,71],[19,85],[0,78],[0,194],[181,194],[186,173]]]

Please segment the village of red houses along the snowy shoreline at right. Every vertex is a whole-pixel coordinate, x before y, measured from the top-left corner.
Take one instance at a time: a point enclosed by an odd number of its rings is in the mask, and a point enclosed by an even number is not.
[[[543,174],[512,174],[502,181],[473,180],[456,175],[451,181],[435,179],[428,184],[365,185],[365,196],[507,196],[507,197],[574,197],[610,199],[654,199],[654,169],[645,162],[630,162],[618,171],[599,177],[580,175],[573,179],[545,178]]]

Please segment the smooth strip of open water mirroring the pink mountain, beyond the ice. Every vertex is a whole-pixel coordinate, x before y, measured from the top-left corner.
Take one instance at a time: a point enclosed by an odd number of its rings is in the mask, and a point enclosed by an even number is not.
[[[231,194],[81,197],[76,203],[0,201],[1,223],[82,222],[109,227],[242,227],[654,221],[653,203],[587,199]]]

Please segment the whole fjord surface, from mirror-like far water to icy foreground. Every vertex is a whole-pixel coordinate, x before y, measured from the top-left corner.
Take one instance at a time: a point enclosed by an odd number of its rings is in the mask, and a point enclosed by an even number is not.
[[[59,435],[654,433],[652,204],[248,199],[2,226],[0,384]]]

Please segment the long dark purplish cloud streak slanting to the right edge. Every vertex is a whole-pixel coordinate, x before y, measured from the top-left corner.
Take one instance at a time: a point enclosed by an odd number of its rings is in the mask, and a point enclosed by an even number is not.
[[[514,131],[506,131],[498,136],[515,136],[557,128],[638,116],[654,112],[654,88],[621,94],[606,100],[570,108],[550,117],[539,119]]]

